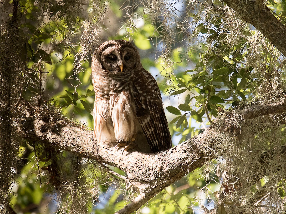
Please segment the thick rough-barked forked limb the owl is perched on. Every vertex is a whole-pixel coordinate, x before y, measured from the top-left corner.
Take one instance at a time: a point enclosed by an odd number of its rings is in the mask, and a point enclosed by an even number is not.
[[[252,119],[267,114],[286,112],[284,101],[254,106],[241,110],[243,119]],[[73,152],[78,156],[108,163],[127,173],[127,182],[140,190],[140,194],[130,204],[117,213],[132,213],[149,201],[162,189],[168,187],[184,175],[201,167],[207,160],[215,158],[211,142],[220,134],[216,124],[192,139],[168,151],[156,154],[114,151],[113,144],[98,145],[90,131],[66,123],[52,123],[30,116],[23,118],[23,137],[36,140],[49,146]]]

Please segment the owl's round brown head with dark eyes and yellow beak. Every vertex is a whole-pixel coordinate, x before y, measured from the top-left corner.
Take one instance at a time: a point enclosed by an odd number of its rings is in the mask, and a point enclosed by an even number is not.
[[[108,74],[126,75],[142,67],[137,49],[125,40],[102,43],[95,52],[94,60]]]

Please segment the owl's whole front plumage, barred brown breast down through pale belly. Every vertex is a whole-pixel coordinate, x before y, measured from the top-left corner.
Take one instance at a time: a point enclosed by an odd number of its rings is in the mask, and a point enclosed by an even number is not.
[[[98,76],[101,76],[101,80]],[[98,141],[134,141],[140,124],[131,93],[132,76],[128,79],[121,79],[119,76],[117,80],[111,76],[105,78],[102,75],[98,76],[93,78],[96,96],[94,103],[95,138]],[[104,132],[102,127],[107,130],[112,127],[113,132]],[[108,136],[108,134],[113,136]]]

